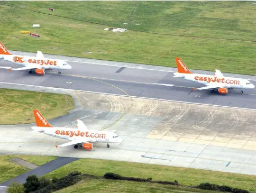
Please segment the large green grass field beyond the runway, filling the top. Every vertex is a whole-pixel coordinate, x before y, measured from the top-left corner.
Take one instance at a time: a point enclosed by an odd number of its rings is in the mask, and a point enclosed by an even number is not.
[[[181,57],[189,69],[255,75],[255,13],[249,1],[3,1],[0,40],[9,50],[169,67]],[[20,33],[27,30],[41,38]]]

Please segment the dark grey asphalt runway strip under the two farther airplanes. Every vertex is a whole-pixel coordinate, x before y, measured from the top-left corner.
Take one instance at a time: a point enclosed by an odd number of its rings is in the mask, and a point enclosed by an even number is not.
[[[173,72],[81,62],[68,63],[72,69],[62,71],[61,75],[54,70],[49,70],[44,76],[40,76],[30,75],[28,71],[10,72],[0,69],[0,81],[109,94],[126,95],[127,93],[137,97],[256,109],[256,89],[243,90],[243,94],[240,94],[240,89],[229,89],[228,95],[212,94],[209,90],[193,91],[193,87],[203,85],[181,78],[171,78]],[[0,66],[18,67],[6,61],[1,61]],[[256,81],[251,80],[251,82],[256,85]]]

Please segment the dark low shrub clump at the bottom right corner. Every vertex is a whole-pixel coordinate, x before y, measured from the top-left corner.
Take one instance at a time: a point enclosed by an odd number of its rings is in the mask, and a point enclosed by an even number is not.
[[[219,186],[215,185],[214,183],[200,183],[200,185],[196,186],[196,188],[199,189],[204,189],[204,190],[217,190],[217,191],[227,191],[227,192],[232,192],[232,193],[249,193],[248,190],[243,190],[239,188],[232,188],[229,186]]]

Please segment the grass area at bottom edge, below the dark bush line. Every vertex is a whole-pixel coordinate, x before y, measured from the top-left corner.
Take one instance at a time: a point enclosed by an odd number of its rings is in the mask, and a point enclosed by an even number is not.
[[[149,183],[149,182],[133,182],[133,181],[121,181],[121,180],[106,180],[106,179],[92,179],[81,181],[74,186],[64,188],[55,193],[84,193],[84,192],[112,192],[112,193],[138,193],[138,192],[175,192],[175,193],[184,193],[184,192],[218,192],[218,191],[207,191],[200,190],[195,188],[184,188],[176,187],[170,185],[161,185],[158,183]]]

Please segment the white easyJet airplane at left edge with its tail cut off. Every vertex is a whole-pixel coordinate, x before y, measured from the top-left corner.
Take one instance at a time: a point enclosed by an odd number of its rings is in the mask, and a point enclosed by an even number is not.
[[[0,58],[10,61],[15,65],[23,66],[21,68],[12,67],[0,67],[11,70],[30,70],[29,73],[33,71],[39,75],[44,75],[45,69],[57,69],[59,70],[69,70],[72,67],[64,60],[49,59],[44,58],[43,53],[38,51],[35,57],[30,56],[20,56],[13,55],[4,47],[4,44],[0,42]]]

